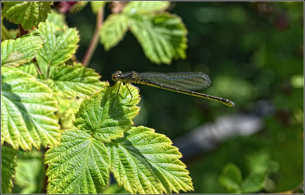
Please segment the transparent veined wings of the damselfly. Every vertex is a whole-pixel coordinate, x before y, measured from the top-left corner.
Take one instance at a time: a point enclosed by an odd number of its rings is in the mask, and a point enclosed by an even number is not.
[[[188,91],[205,89],[211,84],[211,79],[202,72],[141,72],[137,74],[142,80]]]

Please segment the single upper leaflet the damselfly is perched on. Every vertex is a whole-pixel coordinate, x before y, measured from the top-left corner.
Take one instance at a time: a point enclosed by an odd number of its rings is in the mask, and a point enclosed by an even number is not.
[[[132,125],[131,119],[140,109],[135,105],[140,99],[138,90],[131,85],[109,87],[106,82],[105,86],[93,92],[90,98],[85,97],[73,124],[93,137],[101,138],[103,142],[110,142],[111,139],[123,137],[123,132]]]

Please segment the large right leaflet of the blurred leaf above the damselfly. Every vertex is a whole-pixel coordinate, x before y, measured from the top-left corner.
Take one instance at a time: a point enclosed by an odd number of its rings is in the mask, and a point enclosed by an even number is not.
[[[170,64],[173,57],[186,58],[188,31],[179,16],[167,13],[134,16],[130,18],[129,24],[150,61]]]

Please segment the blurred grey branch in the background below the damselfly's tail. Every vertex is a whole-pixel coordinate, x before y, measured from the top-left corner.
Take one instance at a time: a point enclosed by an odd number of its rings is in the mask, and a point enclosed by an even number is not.
[[[270,115],[274,115],[274,105],[268,100],[260,100],[256,102],[256,109],[252,113],[220,116],[172,141],[179,148],[183,154],[183,160],[186,162],[216,149],[228,138],[252,135],[261,131],[264,128],[264,117]]]

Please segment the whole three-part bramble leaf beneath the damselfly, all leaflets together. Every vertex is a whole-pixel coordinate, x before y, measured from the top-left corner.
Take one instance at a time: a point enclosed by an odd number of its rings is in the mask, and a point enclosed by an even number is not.
[[[193,190],[181,153],[165,135],[130,127],[138,114],[138,90],[108,82],[75,114],[75,127],[45,154],[48,193],[101,193],[113,172],[131,193],[178,193]],[[106,146],[104,145],[106,144]]]

